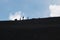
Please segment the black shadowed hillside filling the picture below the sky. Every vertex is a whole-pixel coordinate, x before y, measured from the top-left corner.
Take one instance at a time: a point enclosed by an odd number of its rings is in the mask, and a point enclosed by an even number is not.
[[[55,40],[59,34],[60,17],[0,21],[1,40]]]

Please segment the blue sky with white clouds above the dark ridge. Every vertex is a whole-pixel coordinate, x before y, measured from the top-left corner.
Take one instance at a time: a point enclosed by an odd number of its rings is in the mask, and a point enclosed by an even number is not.
[[[0,0],[0,20],[52,17],[59,10],[60,0]]]

